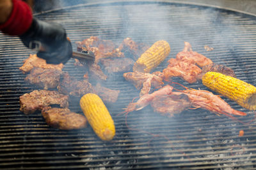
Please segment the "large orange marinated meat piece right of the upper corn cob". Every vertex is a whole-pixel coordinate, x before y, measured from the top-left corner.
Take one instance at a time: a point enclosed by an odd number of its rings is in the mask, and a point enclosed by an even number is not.
[[[193,60],[186,56],[180,56],[179,59],[170,59],[168,62],[170,64],[163,69],[165,80],[170,80],[173,76],[179,76],[188,83],[195,83],[198,74],[202,71]]]

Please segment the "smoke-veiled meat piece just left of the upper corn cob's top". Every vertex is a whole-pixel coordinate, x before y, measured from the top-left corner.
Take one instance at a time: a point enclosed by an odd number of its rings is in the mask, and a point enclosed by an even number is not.
[[[118,46],[121,52],[124,52],[125,57],[131,57],[134,60],[138,60],[140,55],[145,52],[150,46],[143,43],[136,43],[131,38],[125,38]]]

